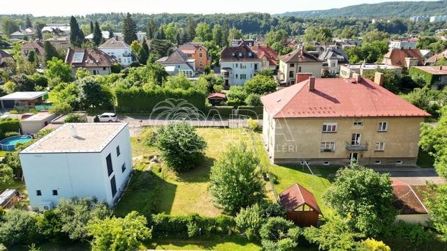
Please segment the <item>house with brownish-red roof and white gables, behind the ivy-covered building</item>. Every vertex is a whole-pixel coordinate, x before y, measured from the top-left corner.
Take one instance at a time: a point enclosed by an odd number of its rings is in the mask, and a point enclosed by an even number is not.
[[[424,58],[419,49],[392,49],[383,56],[382,63],[409,69],[412,66],[423,66]]]

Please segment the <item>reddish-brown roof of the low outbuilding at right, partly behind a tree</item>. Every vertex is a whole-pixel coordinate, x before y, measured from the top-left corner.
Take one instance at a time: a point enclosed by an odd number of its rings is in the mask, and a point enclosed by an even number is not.
[[[420,193],[420,190],[427,189],[425,185],[411,186],[393,178],[391,181],[393,181],[393,195],[395,197],[393,206],[400,210],[401,215],[428,213]]]

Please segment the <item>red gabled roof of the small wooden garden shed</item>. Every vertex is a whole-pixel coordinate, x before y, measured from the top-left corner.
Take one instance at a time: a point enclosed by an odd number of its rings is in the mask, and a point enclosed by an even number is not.
[[[306,188],[303,188],[302,185],[298,185],[297,183],[281,192],[279,194],[279,201],[288,212],[294,211],[298,206],[306,204],[318,213],[323,214],[321,213],[320,207],[318,206],[318,203],[316,203],[316,199],[314,195],[312,195],[312,192],[309,192]]]

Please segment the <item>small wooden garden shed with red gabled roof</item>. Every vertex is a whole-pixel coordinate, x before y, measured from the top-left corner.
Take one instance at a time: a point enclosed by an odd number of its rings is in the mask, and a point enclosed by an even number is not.
[[[300,227],[316,226],[323,215],[312,192],[297,183],[279,194],[279,203],[286,208],[286,218]]]

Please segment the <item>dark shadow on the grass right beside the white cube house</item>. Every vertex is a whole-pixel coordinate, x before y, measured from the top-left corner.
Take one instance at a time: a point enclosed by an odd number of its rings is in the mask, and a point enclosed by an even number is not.
[[[163,204],[173,204],[177,185],[164,181],[154,172],[134,170],[131,181],[115,208],[117,216],[124,217],[131,211],[149,215],[156,213],[160,201],[163,201]]]

